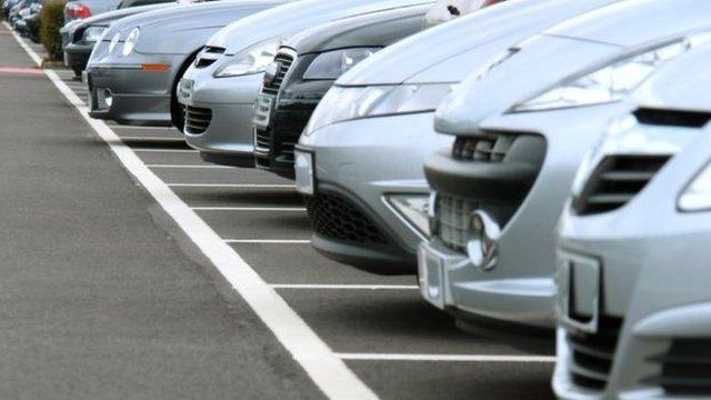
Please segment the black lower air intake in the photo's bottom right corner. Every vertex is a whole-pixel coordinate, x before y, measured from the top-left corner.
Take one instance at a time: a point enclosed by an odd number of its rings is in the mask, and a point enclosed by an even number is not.
[[[661,373],[643,383],[674,397],[711,396],[711,339],[677,339],[665,353],[648,361],[660,364]]]

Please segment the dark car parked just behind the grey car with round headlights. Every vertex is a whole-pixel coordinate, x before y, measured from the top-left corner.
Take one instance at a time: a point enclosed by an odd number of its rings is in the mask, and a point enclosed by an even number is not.
[[[97,17],[76,20],[64,24],[60,30],[62,36],[62,50],[64,53],[64,66],[69,67],[80,77],[81,71],[87,68],[89,56],[94,44],[99,41],[109,26],[121,18],[139,14],[167,7],[176,6],[177,2],[158,3],[153,6],[131,7],[104,12]]]

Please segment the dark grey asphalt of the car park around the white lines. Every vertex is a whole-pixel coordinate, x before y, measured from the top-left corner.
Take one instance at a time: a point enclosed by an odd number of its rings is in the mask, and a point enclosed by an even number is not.
[[[322,398],[50,80],[2,72],[31,66],[0,27],[0,398]],[[550,362],[467,360],[528,354],[458,330],[413,277],[317,254],[291,182],[212,168],[174,129],[110,126],[381,398],[552,397]]]

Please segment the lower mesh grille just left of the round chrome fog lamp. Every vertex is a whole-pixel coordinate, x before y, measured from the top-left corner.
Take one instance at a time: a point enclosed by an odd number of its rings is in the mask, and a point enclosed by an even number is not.
[[[437,199],[437,237],[452,250],[464,251],[470,240],[471,213],[478,202],[440,194]]]

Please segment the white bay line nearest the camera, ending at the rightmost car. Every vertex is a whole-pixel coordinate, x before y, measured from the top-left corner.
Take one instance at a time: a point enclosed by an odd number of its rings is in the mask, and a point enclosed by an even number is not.
[[[553,356],[336,353],[350,361],[555,362]]]

